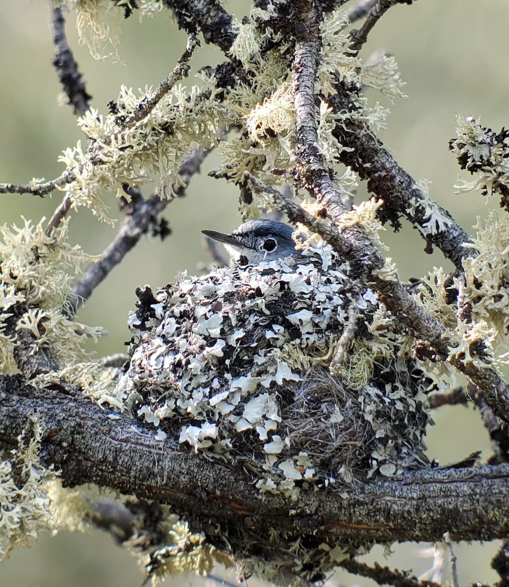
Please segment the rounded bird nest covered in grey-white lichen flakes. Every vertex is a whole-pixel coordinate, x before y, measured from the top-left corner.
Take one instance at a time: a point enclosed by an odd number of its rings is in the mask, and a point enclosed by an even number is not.
[[[261,491],[422,463],[429,380],[348,274],[325,247],[139,291],[119,397],[183,450],[243,465]]]

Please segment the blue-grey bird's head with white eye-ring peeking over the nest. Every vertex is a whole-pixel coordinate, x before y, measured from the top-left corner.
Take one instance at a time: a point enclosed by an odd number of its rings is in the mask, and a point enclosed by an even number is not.
[[[214,230],[201,231],[208,238],[222,242],[237,265],[258,265],[262,261],[277,261],[300,256],[292,238],[294,228],[268,218],[248,220],[231,234]]]

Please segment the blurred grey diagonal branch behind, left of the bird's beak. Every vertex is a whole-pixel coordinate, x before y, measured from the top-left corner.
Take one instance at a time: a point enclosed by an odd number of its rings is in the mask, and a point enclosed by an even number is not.
[[[179,174],[184,185],[175,187],[177,195],[183,195],[191,177],[200,170],[208,151],[196,149],[181,165]],[[120,261],[139,242],[141,236],[149,230],[161,211],[166,208],[170,200],[161,199],[159,194],[153,194],[144,201],[132,214],[124,218],[116,236],[107,245],[99,261],[90,265],[86,274],[73,286],[68,297],[68,313],[74,315],[77,309],[90,297],[94,289],[113,271]]]

